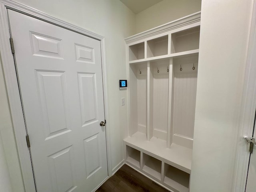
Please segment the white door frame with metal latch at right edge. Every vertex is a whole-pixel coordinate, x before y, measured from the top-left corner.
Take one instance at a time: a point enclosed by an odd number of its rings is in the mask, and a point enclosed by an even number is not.
[[[233,192],[245,191],[250,153],[249,144],[244,140],[244,137],[252,136],[256,110],[256,0],[253,0],[250,25],[242,105],[238,124]]]

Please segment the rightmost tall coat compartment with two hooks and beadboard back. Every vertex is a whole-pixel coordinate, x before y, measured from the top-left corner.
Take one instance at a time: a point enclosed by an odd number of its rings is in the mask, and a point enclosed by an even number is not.
[[[198,54],[173,58],[172,143],[192,149],[196,108]]]

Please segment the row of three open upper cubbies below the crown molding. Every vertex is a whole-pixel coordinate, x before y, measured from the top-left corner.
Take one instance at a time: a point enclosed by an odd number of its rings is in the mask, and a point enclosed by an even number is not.
[[[129,63],[136,64],[157,61],[166,58],[188,56],[199,52],[200,26],[172,33],[146,41],[146,57],[144,42],[129,46]],[[168,37],[170,49],[168,49]],[[168,53],[169,50],[169,53]]]

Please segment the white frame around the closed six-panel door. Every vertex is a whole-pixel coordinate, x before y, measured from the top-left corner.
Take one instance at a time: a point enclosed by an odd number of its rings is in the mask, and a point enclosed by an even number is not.
[[[14,64],[14,58],[10,48],[10,31],[8,24],[7,9],[12,9],[20,13],[38,18],[40,20],[49,22],[51,24],[78,32],[80,34],[100,40],[101,46],[101,58],[102,58],[102,78],[103,78],[103,92],[104,92],[104,109],[105,118],[108,122],[108,98],[107,98],[107,78],[106,78],[106,52],[105,52],[105,38],[78,26],[74,26],[43,12],[35,10],[34,8],[12,2],[10,0],[0,0],[0,54],[2,57],[2,66],[4,71],[4,78],[6,83],[6,89],[8,93],[10,111],[12,116],[12,123],[14,127],[14,133],[16,138],[16,144],[18,149],[18,156],[20,159],[20,166],[22,170],[22,176],[24,180],[25,190],[28,192],[35,192],[34,176],[32,170],[32,164],[30,160],[30,151],[26,144],[26,127],[24,123],[24,116],[22,112],[22,103],[20,99],[20,92],[18,87],[18,80],[16,76],[16,69]],[[14,42],[15,43],[15,42]],[[14,45],[15,46],[15,45]],[[107,142],[107,159],[108,159],[108,177],[112,176],[112,168],[110,162],[110,131],[106,126],[106,142]]]

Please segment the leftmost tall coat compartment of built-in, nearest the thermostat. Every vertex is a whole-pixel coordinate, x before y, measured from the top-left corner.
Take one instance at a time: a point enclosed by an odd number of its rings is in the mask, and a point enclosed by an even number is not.
[[[147,133],[147,63],[130,64],[130,129]]]

